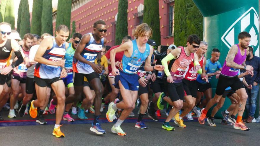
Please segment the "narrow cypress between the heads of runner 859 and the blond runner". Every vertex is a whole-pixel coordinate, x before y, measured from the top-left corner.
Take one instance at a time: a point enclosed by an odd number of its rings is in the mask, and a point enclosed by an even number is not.
[[[122,42],[122,38],[128,35],[127,9],[128,9],[128,1],[119,0],[118,14],[116,20],[116,45],[120,45]]]

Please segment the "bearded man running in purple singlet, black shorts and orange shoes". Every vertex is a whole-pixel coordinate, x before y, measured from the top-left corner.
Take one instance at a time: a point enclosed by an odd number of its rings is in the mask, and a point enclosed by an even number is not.
[[[236,123],[233,125],[235,129],[250,130],[243,122],[242,115],[245,110],[247,93],[243,86],[243,83],[239,80],[237,74],[239,69],[246,70],[250,75],[253,76],[254,68],[251,65],[246,65],[244,63],[246,59],[246,54],[248,53],[248,45],[250,42],[251,35],[248,32],[241,32],[238,35],[239,43],[233,45],[228,51],[228,55],[224,62],[222,71],[220,73],[216,94],[213,99],[211,99],[207,106],[201,110],[201,115],[199,117],[199,123],[204,124],[204,119],[208,110],[222,98],[225,89],[230,86],[240,97],[238,102],[238,117]],[[243,64],[243,65],[242,65]]]

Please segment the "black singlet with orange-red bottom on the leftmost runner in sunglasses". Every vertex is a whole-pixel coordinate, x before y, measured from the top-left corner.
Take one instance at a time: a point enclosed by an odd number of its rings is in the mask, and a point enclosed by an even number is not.
[[[12,56],[11,40],[7,39],[5,44],[0,47],[0,73],[3,68],[10,65]]]

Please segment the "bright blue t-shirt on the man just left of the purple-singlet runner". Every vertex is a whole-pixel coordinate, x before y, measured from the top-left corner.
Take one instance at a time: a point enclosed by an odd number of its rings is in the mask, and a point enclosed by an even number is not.
[[[206,61],[206,65],[205,65],[206,73],[215,73],[217,71],[217,69],[220,69],[220,68],[222,68],[222,66],[219,61],[212,63],[210,58]],[[210,82],[211,78],[212,78],[212,76],[210,76],[208,78],[209,82]],[[198,75],[197,81],[202,84],[207,83],[206,81],[201,79],[201,75]]]

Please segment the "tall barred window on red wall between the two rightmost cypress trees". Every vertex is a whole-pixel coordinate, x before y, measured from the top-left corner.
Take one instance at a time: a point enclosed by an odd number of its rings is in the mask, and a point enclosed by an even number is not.
[[[164,32],[165,37],[172,37],[174,32],[174,0],[165,0]]]

